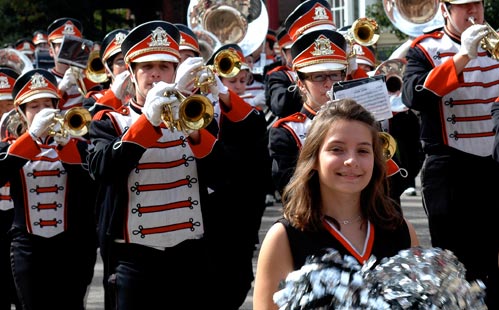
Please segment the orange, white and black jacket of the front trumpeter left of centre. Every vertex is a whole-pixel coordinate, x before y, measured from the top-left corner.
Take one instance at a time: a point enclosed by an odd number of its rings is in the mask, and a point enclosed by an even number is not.
[[[101,229],[154,248],[201,238],[205,188],[197,160],[209,156],[216,139],[205,129],[200,133],[201,142],[191,145],[183,132],[154,127],[133,103],[96,114],[90,169],[106,188],[101,212],[112,214]]]

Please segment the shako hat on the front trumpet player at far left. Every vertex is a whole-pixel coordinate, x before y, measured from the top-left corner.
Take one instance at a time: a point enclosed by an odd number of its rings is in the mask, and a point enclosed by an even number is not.
[[[12,97],[16,108],[39,98],[61,98],[57,79],[46,69],[33,69],[19,76],[14,83]]]

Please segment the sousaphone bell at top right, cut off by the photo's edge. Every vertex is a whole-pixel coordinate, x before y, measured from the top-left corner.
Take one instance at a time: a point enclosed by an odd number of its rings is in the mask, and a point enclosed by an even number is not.
[[[392,24],[413,38],[444,25],[439,0],[383,0],[383,7]]]

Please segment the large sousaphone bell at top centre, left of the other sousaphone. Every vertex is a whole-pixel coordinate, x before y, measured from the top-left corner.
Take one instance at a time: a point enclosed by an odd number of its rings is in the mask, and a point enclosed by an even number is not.
[[[269,19],[263,0],[191,0],[187,26],[197,34],[213,34],[218,40],[213,50],[235,43],[249,55],[265,41]]]

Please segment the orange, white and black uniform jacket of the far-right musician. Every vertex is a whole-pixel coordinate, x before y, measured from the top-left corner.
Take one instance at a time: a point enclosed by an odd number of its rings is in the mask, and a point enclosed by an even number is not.
[[[404,103],[421,112],[421,138],[427,153],[445,145],[477,156],[491,155],[491,106],[499,95],[499,63],[481,47],[461,74],[452,57],[458,38],[435,31],[413,41],[407,53]]]

